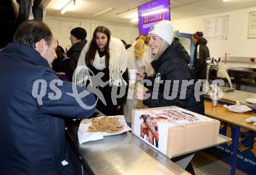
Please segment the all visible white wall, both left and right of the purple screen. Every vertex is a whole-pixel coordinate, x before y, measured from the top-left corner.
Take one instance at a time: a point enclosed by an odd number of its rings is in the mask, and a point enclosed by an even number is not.
[[[195,31],[204,32],[205,18],[229,15],[227,40],[208,39],[210,54],[211,56],[222,57],[223,59],[223,54],[227,52],[230,54],[228,59],[232,59],[233,57],[242,57],[243,60],[246,60],[246,62],[249,63],[250,57],[256,57],[256,39],[247,39],[248,16],[249,12],[254,11],[256,11],[256,7],[176,20],[173,21],[173,24],[175,30],[193,34]],[[170,15],[172,16],[172,13]],[[109,23],[105,21],[57,16],[46,16],[46,23],[52,28],[63,48],[70,47],[70,30],[79,26],[84,27],[87,30],[87,39],[91,38],[95,27],[98,25],[105,25],[109,30],[111,30],[113,37],[124,39],[127,43],[132,43],[138,36],[138,27],[122,23]]]

